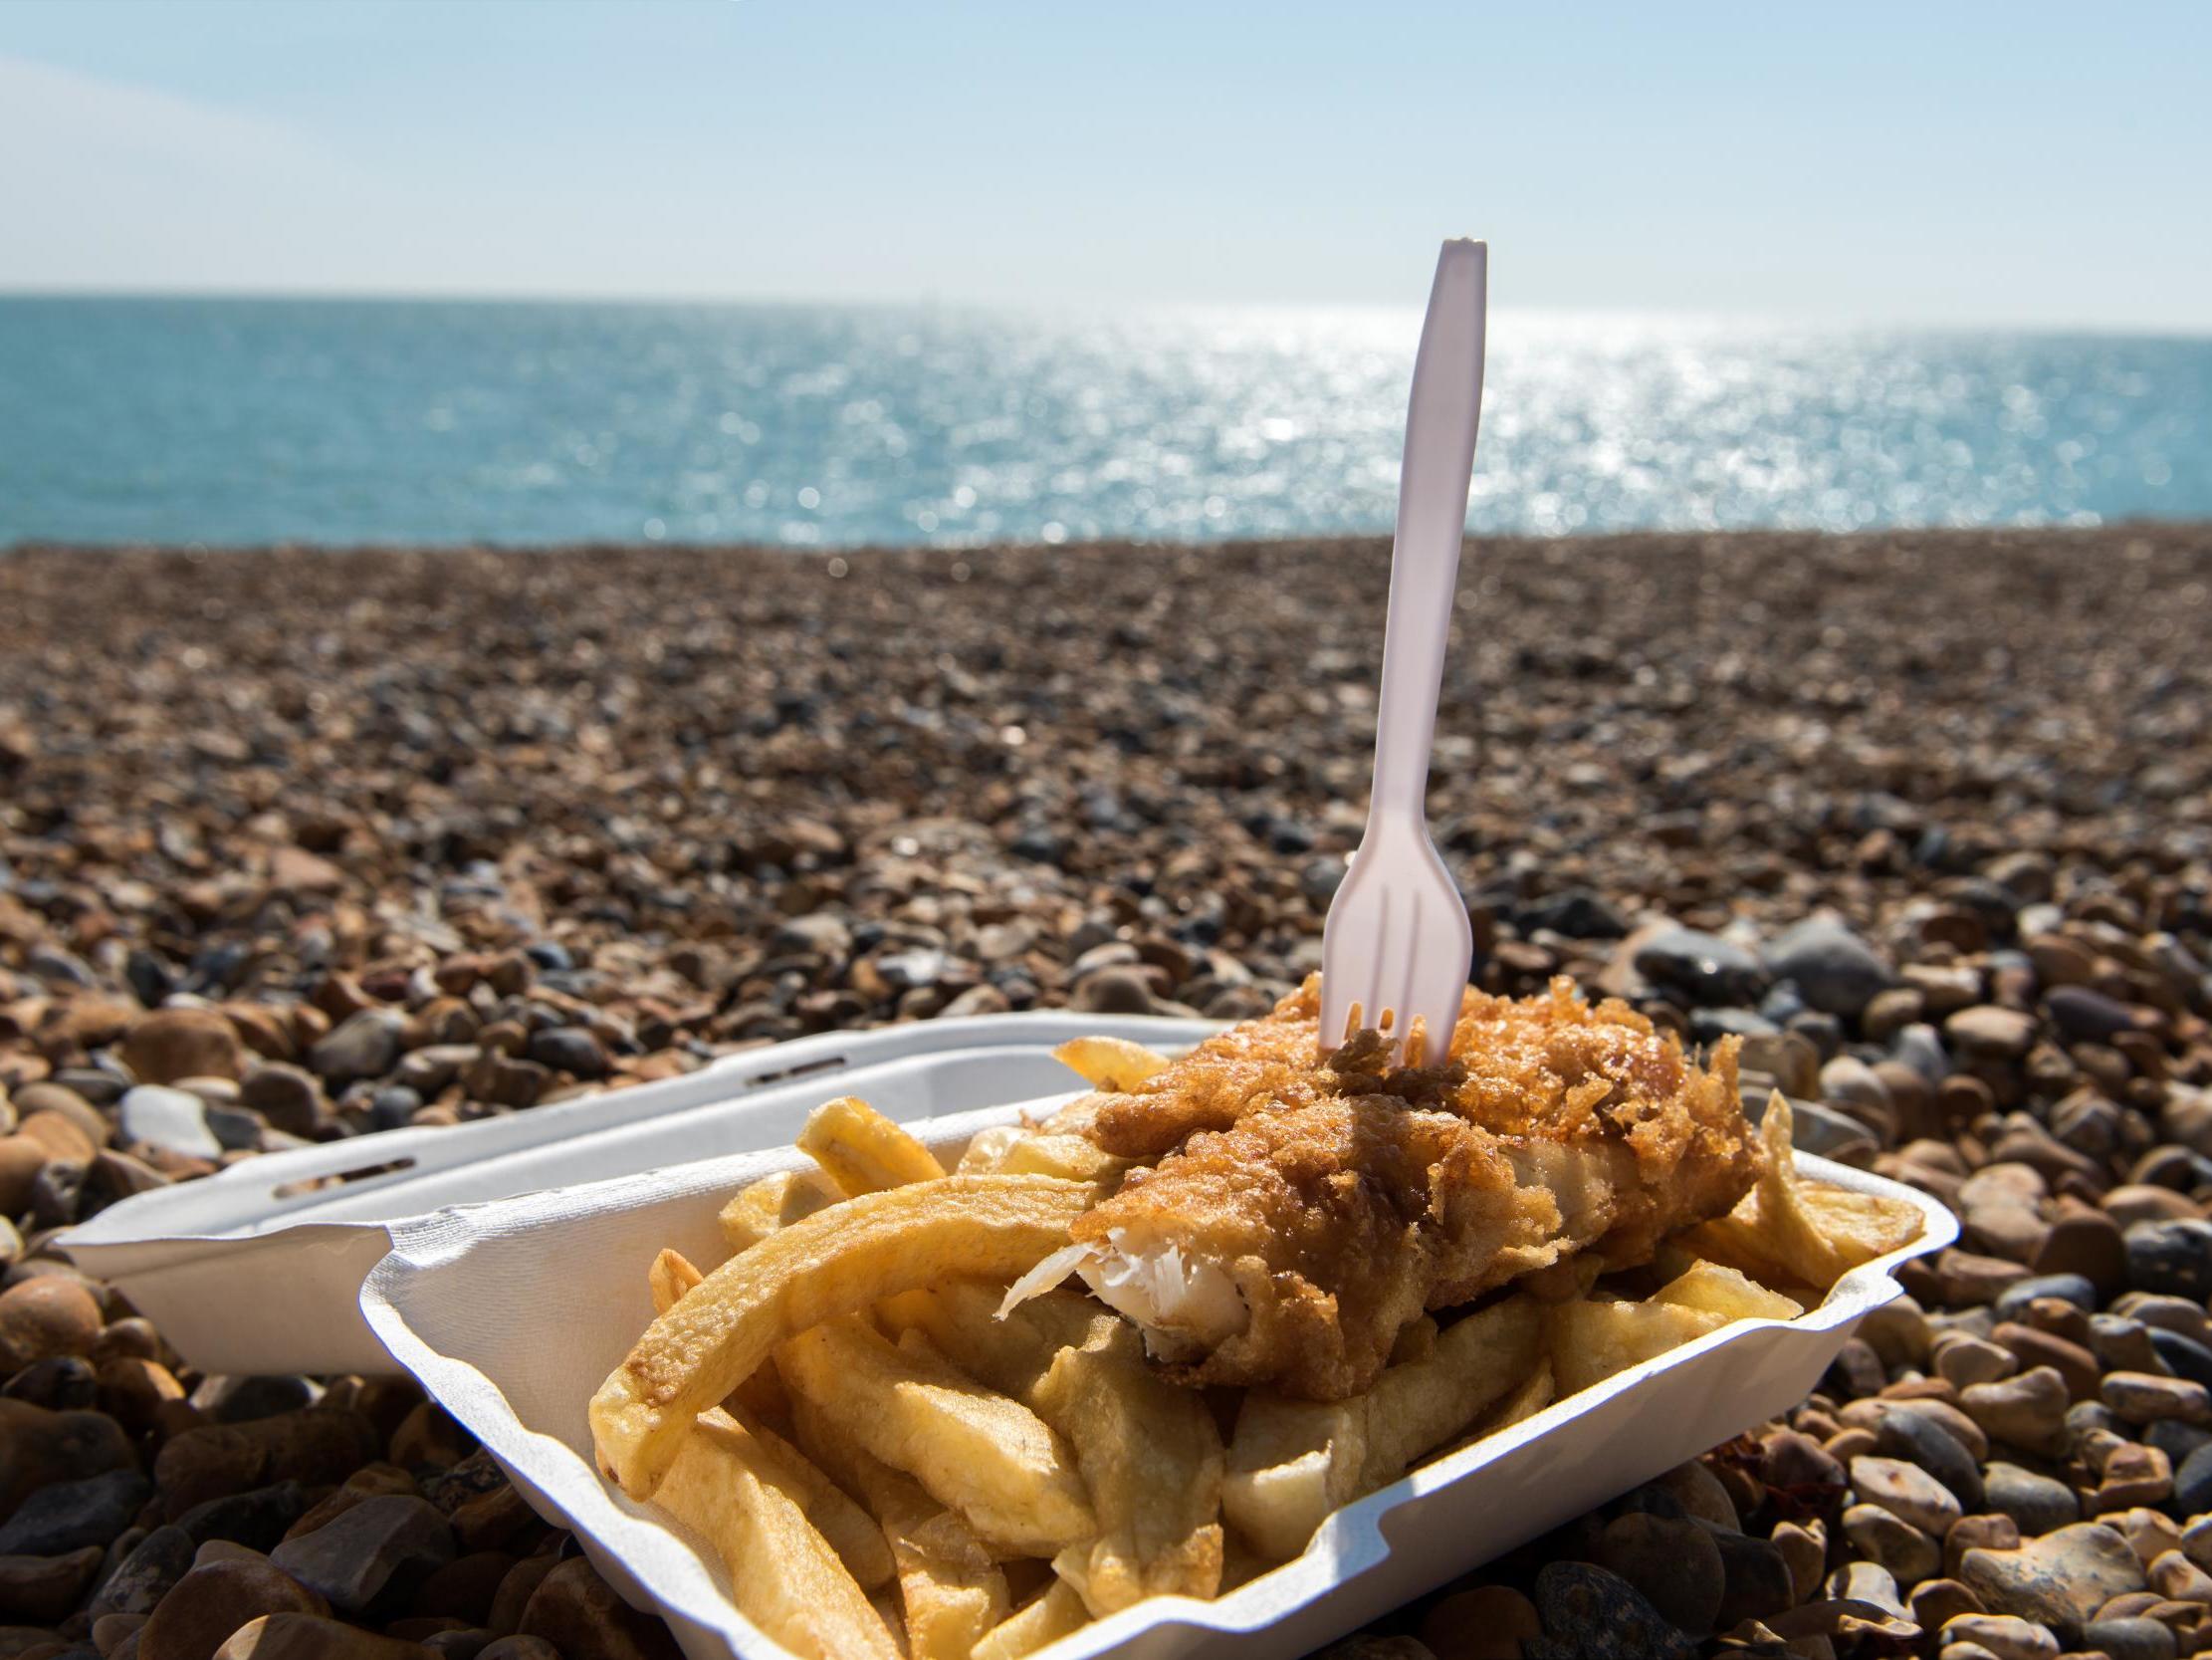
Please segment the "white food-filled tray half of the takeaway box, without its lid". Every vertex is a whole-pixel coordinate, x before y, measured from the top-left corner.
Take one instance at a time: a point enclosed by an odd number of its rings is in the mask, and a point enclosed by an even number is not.
[[[827,1091],[816,1091],[827,1093]],[[1026,1104],[1046,1113],[1066,1093]],[[1022,1107],[916,1127],[956,1155]],[[584,1408],[653,1319],[646,1266],[675,1246],[728,1253],[714,1213],[743,1182],[803,1169],[787,1147],[396,1222],[363,1313],[422,1386],[575,1529],[593,1565],[666,1616],[692,1660],[787,1651],[728,1600],[712,1552],[593,1470]],[[1823,1180],[1902,1197],[1927,1217],[1911,1246],[1845,1275],[1794,1321],[1739,1321],[1559,1401],[1336,1512],[1312,1547],[1214,1602],[1155,1598],[1064,1638],[1053,1660],[1303,1656],[1500,1552],[1694,1459],[1801,1401],[1851,1328],[1898,1295],[1891,1268],[1958,1237],[1951,1213],[1898,1182],[1798,1155]]]

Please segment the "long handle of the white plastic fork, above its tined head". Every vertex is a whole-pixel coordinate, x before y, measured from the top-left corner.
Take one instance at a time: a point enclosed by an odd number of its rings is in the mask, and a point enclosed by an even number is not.
[[[1429,290],[1429,319],[1413,359],[1398,474],[1398,540],[1389,556],[1383,629],[1383,695],[1376,710],[1376,784],[1369,826],[1427,823],[1429,746],[1444,684],[1451,593],[1467,536],[1467,487],[1482,414],[1482,321],[1489,243],[1447,241]]]

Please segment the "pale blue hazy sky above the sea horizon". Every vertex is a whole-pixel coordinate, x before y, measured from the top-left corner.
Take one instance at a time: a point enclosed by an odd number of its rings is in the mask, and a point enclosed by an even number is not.
[[[0,290],[2212,332],[2212,4],[0,0]]]

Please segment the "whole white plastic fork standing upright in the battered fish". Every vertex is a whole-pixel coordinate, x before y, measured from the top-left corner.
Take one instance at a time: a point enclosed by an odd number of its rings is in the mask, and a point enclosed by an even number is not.
[[[1447,241],[1405,416],[1367,830],[1321,932],[1323,1051],[1356,1023],[1405,1045],[1409,1065],[1442,1060],[1475,950],[1467,901],[1429,839],[1425,797],[1475,471],[1486,301],[1489,243]],[[1416,1029],[1422,1054],[1409,1042]]]

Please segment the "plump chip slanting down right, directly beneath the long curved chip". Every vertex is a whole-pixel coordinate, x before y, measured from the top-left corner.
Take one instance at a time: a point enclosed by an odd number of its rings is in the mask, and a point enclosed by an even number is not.
[[[794,1394],[858,1448],[905,1470],[993,1545],[1051,1556],[1097,1532],[1066,1441],[951,1366],[834,1319],[776,1350]]]

